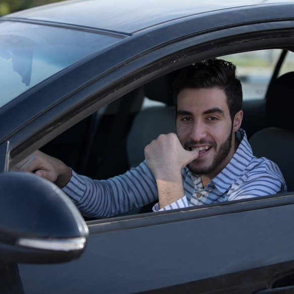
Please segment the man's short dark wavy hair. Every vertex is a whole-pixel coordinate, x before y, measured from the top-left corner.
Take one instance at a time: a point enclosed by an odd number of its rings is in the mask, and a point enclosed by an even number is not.
[[[236,78],[236,67],[222,59],[209,59],[185,67],[173,83],[175,112],[177,96],[184,88],[200,89],[219,87],[223,89],[231,120],[242,108],[242,86]]]

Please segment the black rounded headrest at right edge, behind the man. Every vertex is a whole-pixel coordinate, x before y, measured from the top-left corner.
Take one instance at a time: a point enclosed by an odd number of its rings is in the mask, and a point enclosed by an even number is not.
[[[294,72],[288,72],[278,77],[267,93],[267,126],[294,131],[293,109]]]

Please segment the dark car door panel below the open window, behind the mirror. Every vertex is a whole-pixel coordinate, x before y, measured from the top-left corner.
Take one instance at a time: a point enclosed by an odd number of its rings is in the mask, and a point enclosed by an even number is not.
[[[253,293],[294,289],[294,195],[87,223],[79,260],[19,264],[31,293]]]

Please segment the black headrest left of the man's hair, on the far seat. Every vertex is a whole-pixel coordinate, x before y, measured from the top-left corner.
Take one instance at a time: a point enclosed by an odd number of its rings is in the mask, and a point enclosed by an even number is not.
[[[145,96],[151,100],[173,105],[172,84],[181,70],[170,72],[144,85]]]

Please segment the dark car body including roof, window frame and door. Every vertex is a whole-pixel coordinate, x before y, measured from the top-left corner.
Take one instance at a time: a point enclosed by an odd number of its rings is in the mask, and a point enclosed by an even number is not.
[[[0,46],[3,23],[93,34],[99,44],[91,41],[80,59],[0,108],[1,172],[99,108],[185,65],[294,48],[294,2],[283,1],[64,2],[1,18]],[[1,293],[291,292],[293,211],[294,194],[286,192],[91,220],[77,260],[1,263]]]

